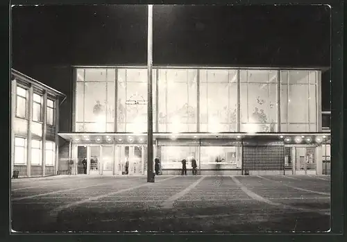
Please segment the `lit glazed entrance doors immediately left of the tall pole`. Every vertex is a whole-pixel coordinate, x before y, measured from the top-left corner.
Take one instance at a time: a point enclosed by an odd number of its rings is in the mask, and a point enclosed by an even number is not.
[[[117,174],[143,175],[144,174],[144,146],[119,145],[117,146]]]

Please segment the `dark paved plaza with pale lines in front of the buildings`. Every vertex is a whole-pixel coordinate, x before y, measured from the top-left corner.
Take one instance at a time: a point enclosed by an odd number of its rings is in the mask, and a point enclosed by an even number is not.
[[[330,230],[330,176],[58,175],[12,180],[17,232]]]

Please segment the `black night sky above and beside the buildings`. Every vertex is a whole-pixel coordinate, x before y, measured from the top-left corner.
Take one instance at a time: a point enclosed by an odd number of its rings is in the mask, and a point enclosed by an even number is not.
[[[144,5],[16,6],[12,68],[69,99],[71,65],[146,64],[146,17]],[[330,8],[154,6],[153,64],[330,67]]]

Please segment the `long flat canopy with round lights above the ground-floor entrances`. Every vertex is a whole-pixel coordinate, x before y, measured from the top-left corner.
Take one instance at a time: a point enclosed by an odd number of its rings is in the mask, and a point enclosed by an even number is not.
[[[59,133],[60,137],[67,141],[81,144],[95,144],[95,143],[146,143],[146,133],[121,133],[121,132],[69,132]],[[273,141],[283,140],[285,144],[330,144],[330,133],[323,132],[310,132],[310,133],[153,133],[153,139],[233,139],[235,141],[242,141],[248,139],[266,139]]]

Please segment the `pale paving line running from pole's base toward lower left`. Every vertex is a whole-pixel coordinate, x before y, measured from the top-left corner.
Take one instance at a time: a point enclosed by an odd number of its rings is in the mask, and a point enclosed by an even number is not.
[[[171,179],[174,179],[174,178],[177,178],[177,175],[175,176],[172,176],[170,178],[165,178],[165,179],[162,179],[162,180],[159,180],[158,182],[163,182],[165,180],[171,180]],[[93,201],[93,200],[99,200],[100,198],[105,198],[105,197],[108,197],[108,196],[112,196],[112,195],[115,195],[115,194],[118,194],[118,193],[123,193],[125,191],[131,191],[131,190],[134,190],[134,189],[138,189],[140,187],[146,187],[146,186],[149,186],[153,183],[149,183],[149,182],[146,182],[144,184],[139,184],[135,187],[129,187],[129,188],[126,188],[126,189],[121,189],[121,190],[118,190],[118,191],[113,191],[113,192],[110,192],[110,193],[106,193],[106,194],[103,194],[103,195],[100,195],[100,196],[95,196],[95,197],[91,197],[91,198],[86,198],[86,199],[83,199],[83,200],[79,200],[79,201],[76,201],[76,202],[70,202],[69,204],[67,205],[62,205],[62,206],[59,206],[57,207],[56,209],[53,209],[50,213],[49,213],[49,216],[50,218],[52,216],[57,216],[58,215],[58,212],[59,211],[62,211],[63,209],[67,209],[69,207],[74,207],[76,205],[81,205],[85,202],[90,202],[90,201]]]

